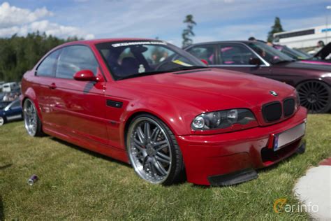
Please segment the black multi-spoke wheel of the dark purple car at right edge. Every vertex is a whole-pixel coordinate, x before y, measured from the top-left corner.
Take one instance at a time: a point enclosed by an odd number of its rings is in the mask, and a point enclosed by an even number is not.
[[[331,89],[326,83],[318,80],[309,80],[297,85],[300,104],[309,110],[309,113],[328,113],[331,108]]]

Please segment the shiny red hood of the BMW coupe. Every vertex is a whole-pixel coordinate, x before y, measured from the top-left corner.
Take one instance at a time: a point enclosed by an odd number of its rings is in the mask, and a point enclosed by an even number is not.
[[[117,81],[147,96],[179,99],[204,111],[252,108],[293,95],[293,87],[276,80],[221,69],[198,69]],[[137,91],[139,90],[139,92]],[[279,95],[274,97],[270,91]]]

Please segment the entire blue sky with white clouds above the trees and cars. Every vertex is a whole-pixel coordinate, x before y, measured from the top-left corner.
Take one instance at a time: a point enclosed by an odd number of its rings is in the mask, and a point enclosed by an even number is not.
[[[193,43],[265,40],[281,19],[286,31],[331,24],[325,0],[13,0],[0,1],[0,37],[41,31],[60,38],[156,38],[182,44],[186,15]]]

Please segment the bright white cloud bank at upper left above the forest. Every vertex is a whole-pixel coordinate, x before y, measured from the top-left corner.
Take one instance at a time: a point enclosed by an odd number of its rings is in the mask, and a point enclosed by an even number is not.
[[[31,11],[26,8],[10,6],[8,2],[4,2],[0,5],[0,37],[8,37],[13,34],[25,36],[30,32],[40,31],[60,38],[68,38],[68,36],[85,39],[94,38],[94,34],[82,31],[78,27],[65,26],[49,20],[40,20],[43,17],[53,15],[54,13],[45,7]]]

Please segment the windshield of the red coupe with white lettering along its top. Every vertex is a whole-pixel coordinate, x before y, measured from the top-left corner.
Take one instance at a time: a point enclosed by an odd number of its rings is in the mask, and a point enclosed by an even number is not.
[[[207,68],[193,55],[163,41],[121,41],[96,45],[115,80]]]

